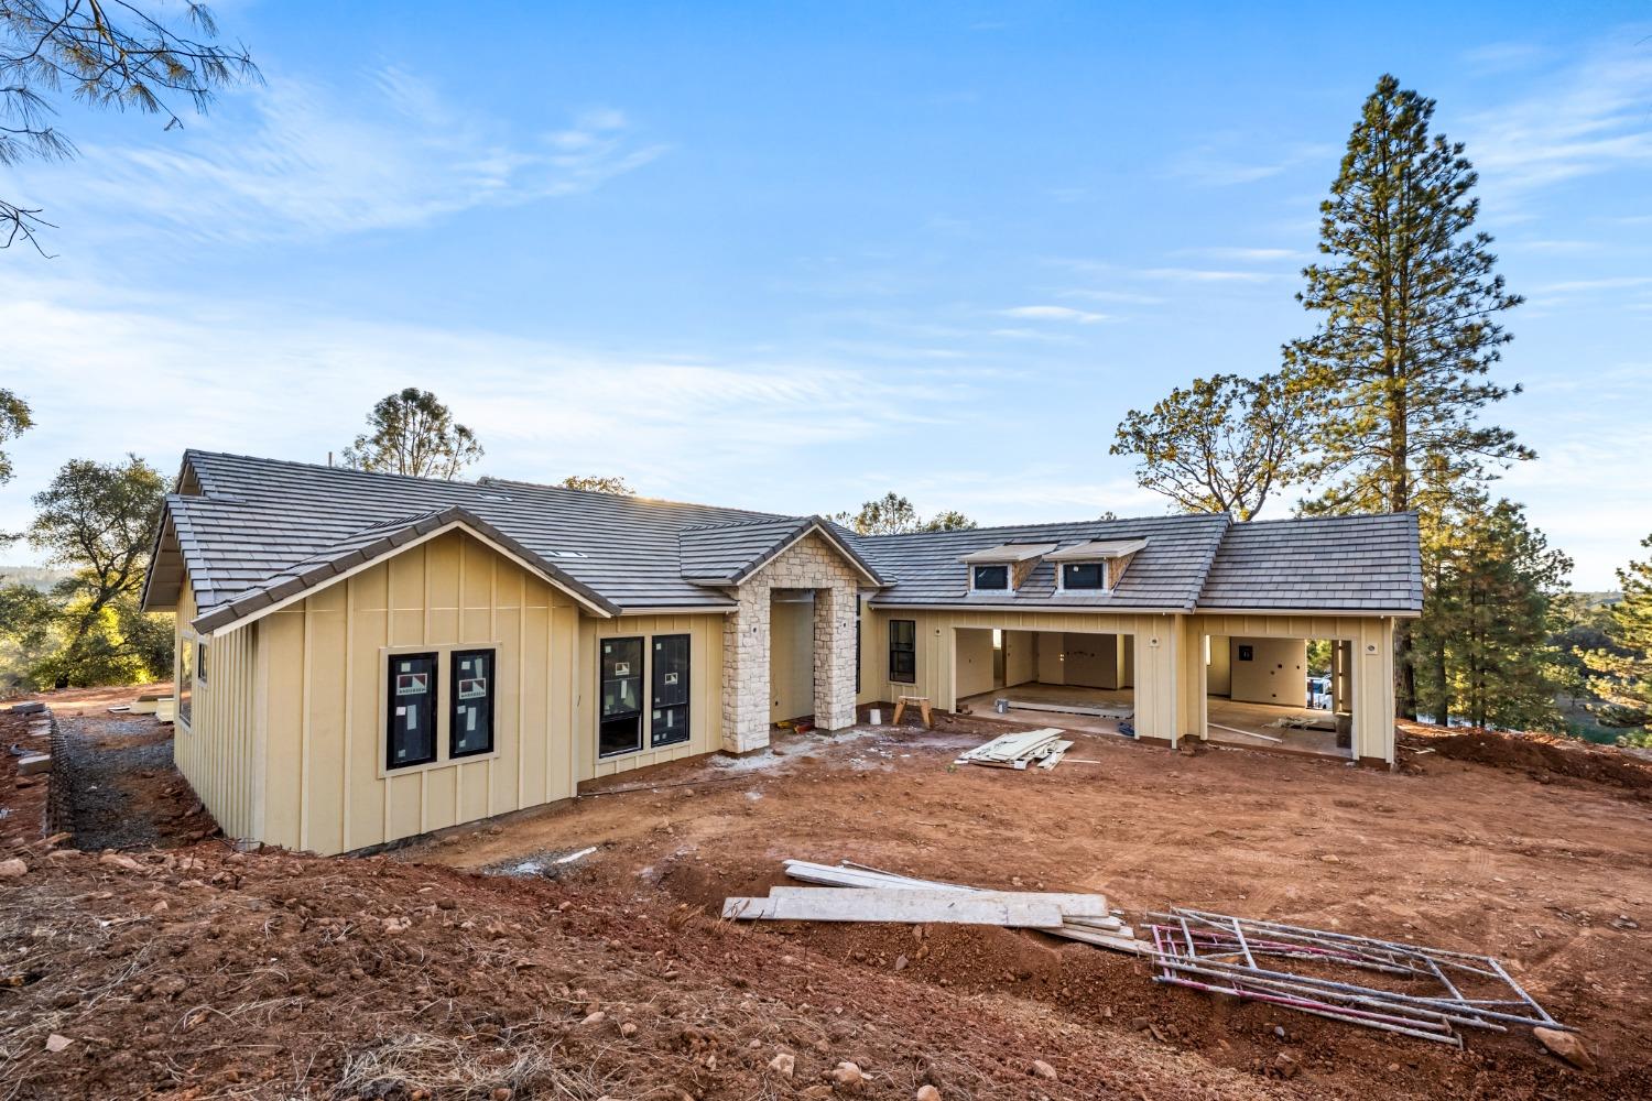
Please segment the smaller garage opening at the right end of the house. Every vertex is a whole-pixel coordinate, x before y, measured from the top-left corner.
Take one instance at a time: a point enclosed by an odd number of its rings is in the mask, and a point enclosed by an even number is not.
[[[1353,642],[1204,636],[1209,741],[1351,759]]]

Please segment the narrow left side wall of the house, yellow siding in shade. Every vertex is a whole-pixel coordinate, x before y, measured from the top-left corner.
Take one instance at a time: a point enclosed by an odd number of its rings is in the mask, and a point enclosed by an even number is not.
[[[173,695],[180,688],[183,645],[195,644],[188,627],[193,617],[195,593],[185,578],[173,617]],[[206,640],[206,680],[195,682],[190,720],[178,716],[172,728],[173,763],[225,837],[233,839],[258,835],[263,794],[254,751],[256,637],[253,629],[241,629]]]

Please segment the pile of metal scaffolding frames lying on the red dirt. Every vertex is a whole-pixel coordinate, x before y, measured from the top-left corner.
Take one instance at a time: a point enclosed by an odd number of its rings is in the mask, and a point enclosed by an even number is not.
[[[1155,982],[1231,994],[1315,1017],[1462,1047],[1455,1027],[1507,1032],[1531,1025],[1571,1032],[1490,956],[1447,952],[1303,926],[1198,910],[1151,914]],[[1307,961],[1313,974],[1279,959]],[[1262,962],[1265,961],[1265,962]],[[1325,977],[1351,969],[1391,976],[1396,987]]]

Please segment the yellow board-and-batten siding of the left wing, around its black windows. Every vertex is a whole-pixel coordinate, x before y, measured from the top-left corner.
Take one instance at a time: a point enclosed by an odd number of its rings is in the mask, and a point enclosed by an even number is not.
[[[180,652],[193,617],[185,584]],[[195,723],[180,725],[173,756],[230,837],[322,853],[380,845],[717,749],[722,631],[715,612],[582,616],[560,589],[449,532],[213,636]],[[598,758],[598,639],[641,636],[653,660],[656,634],[691,636],[691,738]],[[449,662],[468,649],[496,654],[494,751],[453,761]],[[396,654],[438,655],[438,758],[390,769],[387,670]],[[643,718],[646,744],[646,710]]]

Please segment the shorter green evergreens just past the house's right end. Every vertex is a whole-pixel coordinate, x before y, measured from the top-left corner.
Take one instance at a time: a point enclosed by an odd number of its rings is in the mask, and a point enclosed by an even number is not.
[[[1520,505],[1462,495],[1439,525],[1429,614],[1416,634],[1417,688],[1436,723],[1564,728],[1551,636],[1569,571]]]

